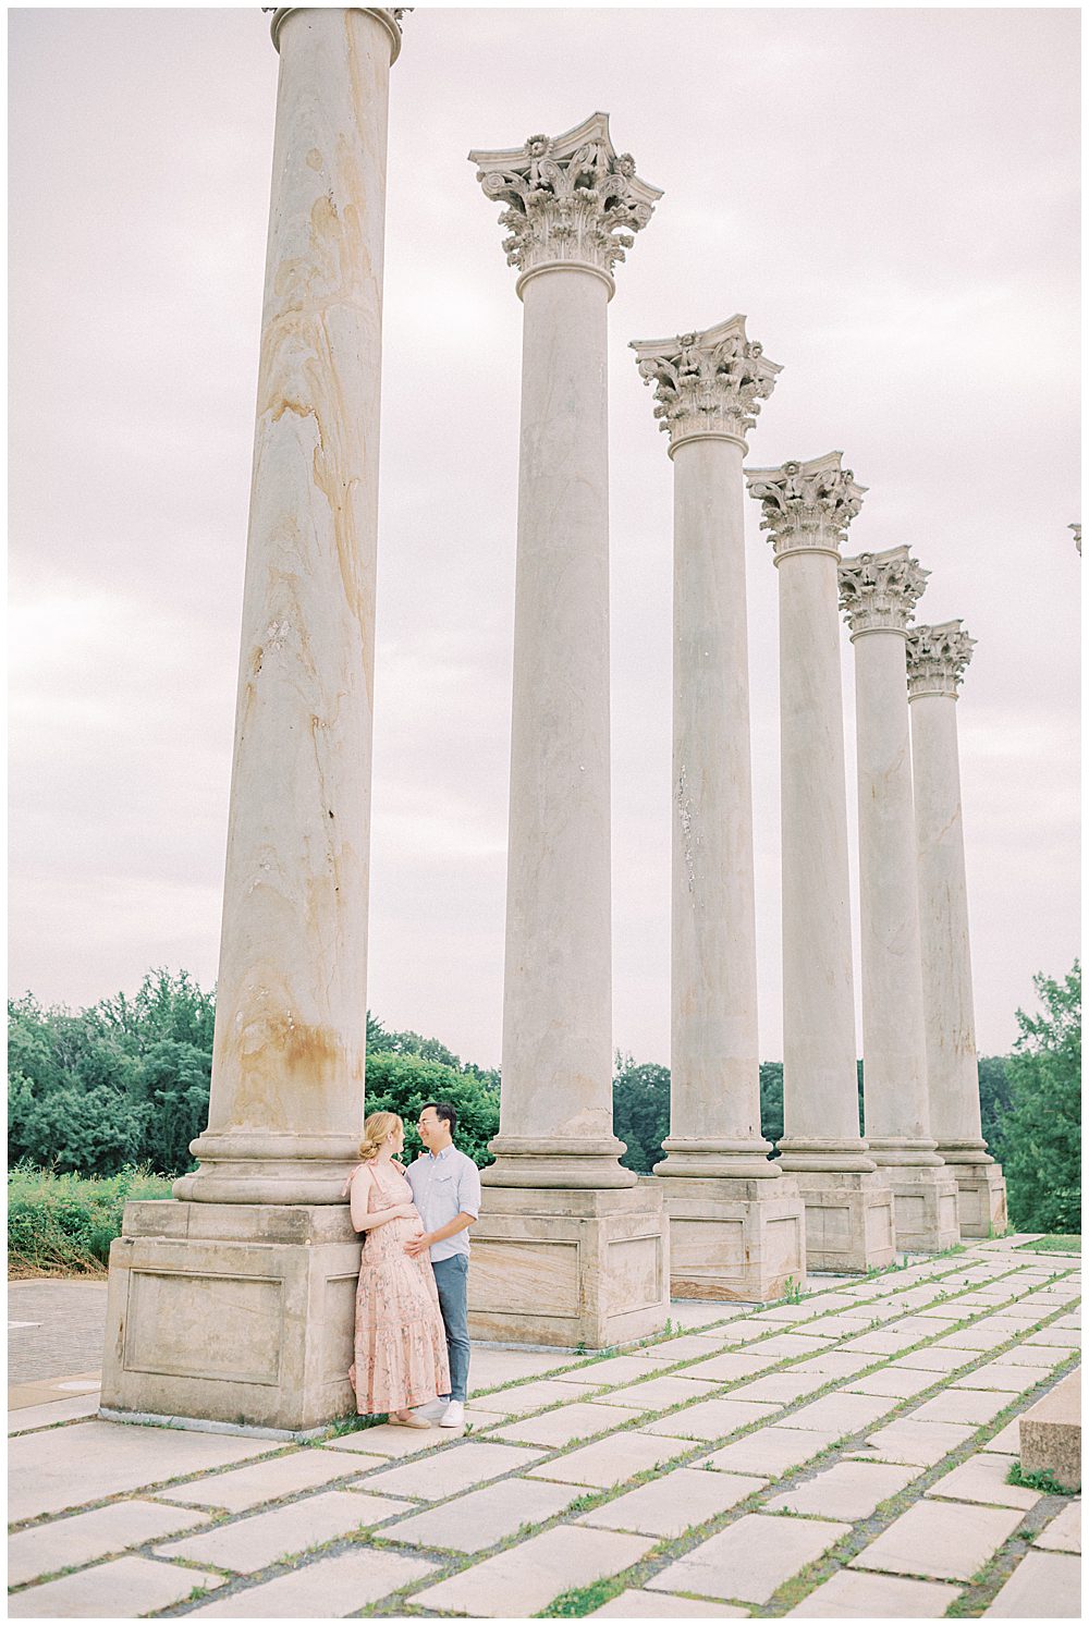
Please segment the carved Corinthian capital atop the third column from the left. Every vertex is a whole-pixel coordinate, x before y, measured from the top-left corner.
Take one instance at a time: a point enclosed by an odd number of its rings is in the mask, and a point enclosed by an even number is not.
[[[634,338],[639,374],[653,384],[658,428],[670,436],[670,455],[696,436],[728,436],[744,442],[761,402],[783,369],[767,361],[764,346],[744,337],[744,317],[731,315],[704,333]]]

